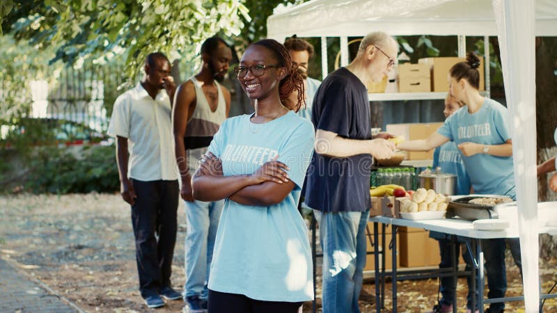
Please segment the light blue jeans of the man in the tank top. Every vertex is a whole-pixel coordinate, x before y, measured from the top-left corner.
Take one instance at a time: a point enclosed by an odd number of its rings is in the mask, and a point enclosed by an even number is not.
[[[224,200],[217,202],[186,201],[187,234],[185,242],[185,297],[207,299],[209,272],[213,258]]]

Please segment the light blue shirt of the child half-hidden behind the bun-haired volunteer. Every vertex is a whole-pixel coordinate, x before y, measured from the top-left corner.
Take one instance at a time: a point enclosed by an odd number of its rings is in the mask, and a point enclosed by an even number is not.
[[[441,168],[441,172],[457,175],[457,195],[470,193],[470,177],[464,168],[460,151],[453,141],[436,147],[433,152],[433,168]]]

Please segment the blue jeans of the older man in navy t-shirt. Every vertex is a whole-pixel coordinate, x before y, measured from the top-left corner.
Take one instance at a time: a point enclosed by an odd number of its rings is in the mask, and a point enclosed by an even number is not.
[[[323,247],[322,312],[359,313],[370,212],[313,212]]]

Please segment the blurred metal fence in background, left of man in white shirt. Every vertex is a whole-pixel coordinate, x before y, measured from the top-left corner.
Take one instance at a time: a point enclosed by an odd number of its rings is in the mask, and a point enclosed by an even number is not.
[[[118,90],[125,81],[121,68],[91,63],[79,70],[52,70],[48,81],[31,75],[0,79],[2,143],[22,135],[33,144],[49,138],[92,140],[106,134],[114,101],[123,92]]]

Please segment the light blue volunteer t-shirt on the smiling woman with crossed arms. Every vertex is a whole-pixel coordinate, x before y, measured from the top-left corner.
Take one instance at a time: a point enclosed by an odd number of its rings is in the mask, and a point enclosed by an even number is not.
[[[292,111],[265,124],[249,118],[229,118],[214,135],[209,151],[221,159],[223,175],[251,174],[278,154],[296,186],[283,202],[269,207],[225,200],[209,288],[256,300],[311,300],[308,229],[297,203],[313,154],[313,125]]]

